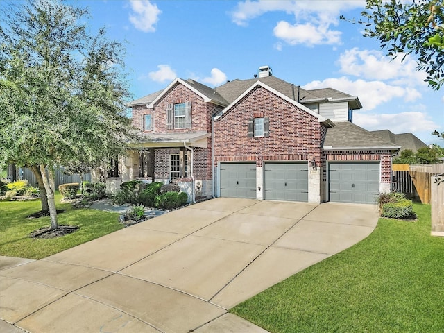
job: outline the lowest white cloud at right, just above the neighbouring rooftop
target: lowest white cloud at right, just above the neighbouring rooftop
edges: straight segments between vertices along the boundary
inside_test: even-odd
[[[391,130],[395,134],[418,131],[432,133],[436,123],[425,112],[407,111],[395,114],[368,114],[355,112],[353,122],[366,130]]]

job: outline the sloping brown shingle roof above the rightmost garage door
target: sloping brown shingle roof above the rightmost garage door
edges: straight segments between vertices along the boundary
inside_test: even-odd
[[[400,146],[390,140],[364,130],[349,121],[336,121],[335,126],[327,128],[323,148],[325,151],[384,148],[397,151]]]

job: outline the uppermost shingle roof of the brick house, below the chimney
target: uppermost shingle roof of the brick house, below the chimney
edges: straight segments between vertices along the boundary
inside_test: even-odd
[[[183,80],[176,78],[173,82],[163,90],[155,92],[153,94],[144,96],[140,99],[136,99],[130,103],[130,106],[149,104],[152,107],[155,102],[162,98],[164,94],[167,94],[169,89],[177,83],[182,83],[192,91],[196,92],[199,96],[203,97],[205,101],[212,101],[221,106],[230,105],[233,101],[239,98],[241,94],[244,94],[253,84],[262,82],[268,87],[275,89],[280,94],[287,96],[289,99],[298,100],[298,86],[281,80],[275,76],[265,76],[263,78],[251,78],[248,80],[232,80],[224,85],[216,88],[208,87],[202,83],[198,83],[195,80]],[[332,101],[347,101],[350,103],[350,108],[360,109],[362,108],[361,102],[357,96],[352,96],[340,92],[339,90],[332,88],[305,90],[299,88],[299,102],[301,104],[316,103],[316,102],[332,102]]]

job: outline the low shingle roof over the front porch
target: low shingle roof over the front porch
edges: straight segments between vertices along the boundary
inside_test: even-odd
[[[206,148],[207,137],[209,132],[193,132],[193,133],[142,133],[142,142],[133,144],[137,148],[151,147],[180,147],[184,143],[189,146]]]

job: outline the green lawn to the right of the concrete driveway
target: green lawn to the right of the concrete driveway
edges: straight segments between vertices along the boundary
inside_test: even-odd
[[[418,221],[379,219],[364,241],[241,303],[270,332],[444,332],[444,239]]]

